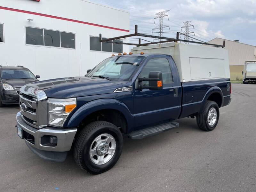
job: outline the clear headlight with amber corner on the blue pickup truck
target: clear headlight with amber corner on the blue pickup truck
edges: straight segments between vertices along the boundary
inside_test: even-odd
[[[76,108],[76,98],[48,100],[48,123],[62,127],[69,113]]]

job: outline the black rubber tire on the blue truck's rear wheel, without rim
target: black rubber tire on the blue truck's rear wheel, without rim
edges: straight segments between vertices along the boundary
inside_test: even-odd
[[[217,118],[213,125],[210,125],[207,121],[208,113],[211,108],[215,108],[217,112]],[[219,106],[214,101],[206,101],[204,111],[196,116],[197,126],[204,131],[212,131],[218,124],[220,116]]]

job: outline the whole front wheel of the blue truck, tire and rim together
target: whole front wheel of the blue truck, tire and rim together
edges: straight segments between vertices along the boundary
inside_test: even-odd
[[[100,174],[111,169],[123,149],[123,135],[106,121],[86,125],[79,133],[74,148],[76,164],[91,174]]]

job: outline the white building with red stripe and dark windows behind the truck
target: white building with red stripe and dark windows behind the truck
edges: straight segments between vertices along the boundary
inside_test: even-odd
[[[129,45],[100,43],[129,34],[129,12],[86,0],[0,0],[0,65],[41,79],[84,76]]]

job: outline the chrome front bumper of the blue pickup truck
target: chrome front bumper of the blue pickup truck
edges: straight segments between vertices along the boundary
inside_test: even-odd
[[[36,129],[36,128],[26,124],[23,121],[23,119],[21,118],[20,112],[17,113],[16,120],[17,120],[17,125],[23,130],[23,132],[26,132],[34,137],[33,141],[24,138],[24,140],[25,140],[26,144],[29,146],[29,148],[34,153],[39,155],[40,157],[42,157],[44,159],[48,159],[48,160],[53,160],[53,161],[54,161],[54,159],[49,159],[47,157],[47,155],[45,155],[45,153],[47,153],[47,151],[48,152],[69,151],[72,146],[72,143],[73,143],[76,131],[77,131],[76,128],[64,129],[64,128],[55,128],[55,127],[45,127],[42,129]],[[44,135],[50,135],[50,136],[57,137],[57,145],[55,147],[42,145],[41,138]],[[41,153],[40,153],[40,151],[41,151]],[[48,155],[49,155],[49,153],[48,153]]]

